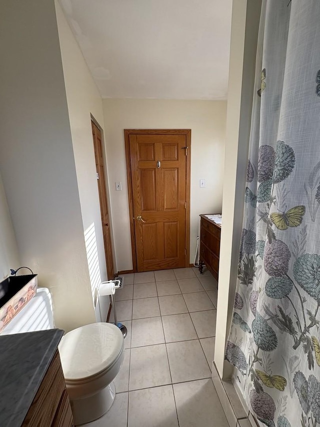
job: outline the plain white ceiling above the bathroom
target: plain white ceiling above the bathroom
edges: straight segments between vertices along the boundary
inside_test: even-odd
[[[232,0],[60,0],[103,98],[226,99]]]

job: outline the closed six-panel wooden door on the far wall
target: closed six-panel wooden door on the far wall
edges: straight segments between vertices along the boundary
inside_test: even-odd
[[[137,271],[188,266],[187,135],[129,134],[128,145]]]

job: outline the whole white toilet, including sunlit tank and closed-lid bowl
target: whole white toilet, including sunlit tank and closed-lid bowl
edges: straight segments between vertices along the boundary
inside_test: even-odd
[[[4,328],[2,335],[54,327],[51,295],[36,295]],[[123,362],[121,331],[110,323],[92,323],[66,333],[59,344],[63,375],[75,424],[102,416],[115,397],[113,379]]]

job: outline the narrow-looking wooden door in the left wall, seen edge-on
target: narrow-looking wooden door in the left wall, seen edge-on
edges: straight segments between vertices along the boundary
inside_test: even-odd
[[[92,136],[93,136],[93,146],[94,146],[95,168],[97,173],[96,177],[97,177],[97,184],[98,184],[98,191],[99,191],[106,272],[107,272],[108,280],[112,280],[114,278],[114,267],[113,267],[113,257],[112,257],[108,204],[107,204],[106,191],[105,191],[106,189],[105,189],[104,163],[103,163],[102,144],[101,144],[101,131],[96,126],[96,124],[92,121],[91,121],[91,126],[92,126]]]

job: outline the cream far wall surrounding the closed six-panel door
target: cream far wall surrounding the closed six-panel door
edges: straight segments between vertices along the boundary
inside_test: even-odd
[[[190,262],[201,213],[219,213],[225,101],[104,99],[105,144],[117,270],[132,268],[123,129],[191,129]],[[199,188],[204,178],[205,188]],[[115,182],[122,191],[115,191]]]

